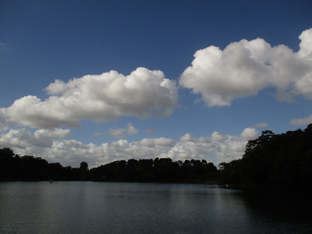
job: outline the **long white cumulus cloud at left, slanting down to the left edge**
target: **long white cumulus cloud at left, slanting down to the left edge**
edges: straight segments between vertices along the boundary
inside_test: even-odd
[[[117,71],[55,80],[46,89],[51,96],[42,101],[25,96],[0,109],[0,121],[31,128],[79,127],[81,119],[118,120],[120,116],[141,119],[171,115],[177,105],[176,82],[162,71],[139,67],[130,75]]]

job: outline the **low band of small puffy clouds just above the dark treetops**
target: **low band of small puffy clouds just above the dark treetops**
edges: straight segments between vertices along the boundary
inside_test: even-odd
[[[130,158],[171,158],[173,161],[185,159],[205,159],[215,165],[241,158],[249,139],[254,139],[255,130],[246,128],[240,136],[223,135],[213,132],[209,137],[195,138],[191,134],[181,136],[178,141],[160,138],[144,138],[128,142],[119,139],[111,143],[95,145],[83,144],[75,139],[59,140],[70,134],[69,129],[29,130],[11,129],[0,135],[0,147],[10,147],[15,154],[42,157],[48,162],[60,162],[63,166],[79,167],[80,162],[88,162],[89,167],[115,160]],[[250,138],[248,138],[250,137]]]

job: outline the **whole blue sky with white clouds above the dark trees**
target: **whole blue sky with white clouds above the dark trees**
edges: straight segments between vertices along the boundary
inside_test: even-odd
[[[311,1],[0,1],[0,148],[89,168],[241,158],[312,123]]]

